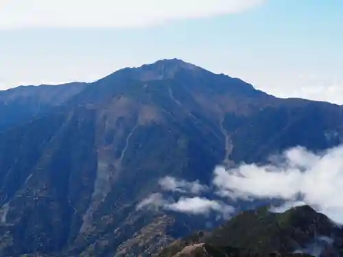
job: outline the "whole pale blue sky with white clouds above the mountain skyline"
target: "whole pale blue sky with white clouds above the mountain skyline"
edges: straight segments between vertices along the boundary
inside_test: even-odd
[[[280,97],[343,104],[342,0],[43,2],[0,5],[2,89],[181,58]]]

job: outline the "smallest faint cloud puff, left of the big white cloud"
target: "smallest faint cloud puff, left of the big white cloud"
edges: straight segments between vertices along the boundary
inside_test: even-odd
[[[198,180],[187,182],[186,180],[178,180],[169,176],[159,180],[158,184],[160,184],[164,191],[192,193],[194,195],[198,195],[208,189],[207,186],[200,184]]]

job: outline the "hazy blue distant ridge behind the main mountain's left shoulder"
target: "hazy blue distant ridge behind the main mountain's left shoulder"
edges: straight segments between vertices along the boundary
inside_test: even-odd
[[[33,117],[60,106],[80,93],[86,83],[58,86],[19,86],[0,91],[0,131],[14,125],[23,125]]]

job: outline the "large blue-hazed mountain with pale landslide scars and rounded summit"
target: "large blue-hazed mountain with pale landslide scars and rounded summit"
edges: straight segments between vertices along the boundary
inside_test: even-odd
[[[161,193],[161,178],[209,184],[217,164],[342,143],[342,106],[278,99],[182,60],[69,86],[54,88],[56,101],[40,87],[2,93],[27,90],[46,107],[5,119],[0,133],[0,256],[149,256],[208,219],[222,223],[137,208]]]

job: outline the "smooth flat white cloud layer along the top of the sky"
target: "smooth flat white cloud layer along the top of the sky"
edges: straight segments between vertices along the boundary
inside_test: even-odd
[[[265,0],[3,0],[0,29],[144,27],[243,12]]]

